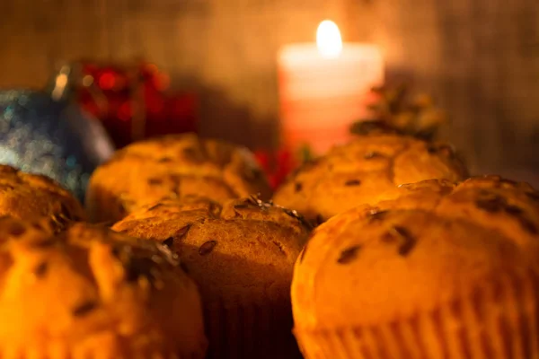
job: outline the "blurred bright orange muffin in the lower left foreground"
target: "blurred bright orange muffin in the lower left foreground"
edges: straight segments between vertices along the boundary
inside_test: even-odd
[[[197,286],[164,246],[0,219],[1,358],[203,358]]]

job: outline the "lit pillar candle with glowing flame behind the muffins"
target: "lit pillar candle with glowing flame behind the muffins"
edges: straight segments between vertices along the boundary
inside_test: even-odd
[[[384,82],[384,62],[376,46],[342,44],[333,22],[321,22],[316,40],[281,48],[278,92],[285,146],[324,153],[349,140],[350,125],[365,115],[365,95]]]

